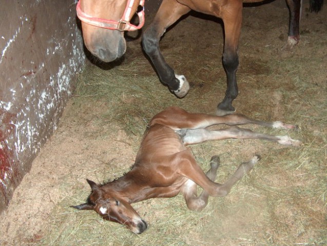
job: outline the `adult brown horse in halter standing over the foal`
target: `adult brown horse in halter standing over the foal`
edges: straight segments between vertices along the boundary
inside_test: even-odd
[[[244,0],[244,3],[256,3],[263,0]],[[323,0],[310,0],[311,11],[318,12]],[[159,41],[166,29],[174,24],[182,15],[190,10],[214,15],[223,20],[225,41],[223,50],[223,66],[227,76],[225,97],[218,104],[217,114],[233,113],[233,100],[238,95],[236,71],[239,65],[238,43],[242,23],[241,0],[163,0],[153,22],[142,37],[142,46],[157,70],[162,84],[177,97],[184,97],[189,84],[183,75],[166,63],[159,49]],[[299,22],[302,0],[286,0],[290,9],[290,24],[287,43],[284,48],[292,48],[299,42]],[[112,61],[122,56],[126,50],[123,31],[136,30],[144,23],[143,10],[138,12],[139,26],[130,24],[130,19],[144,0],[80,0],[77,13],[82,20],[84,43],[87,49],[103,61]],[[122,17],[121,17],[122,16]]]

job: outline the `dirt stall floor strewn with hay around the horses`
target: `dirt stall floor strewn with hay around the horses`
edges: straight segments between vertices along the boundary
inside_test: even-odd
[[[88,64],[59,127],[0,217],[0,244],[327,245],[327,6],[316,14],[304,3],[300,43],[284,52],[286,4],[243,9],[234,103],[238,113],[299,125],[299,132],[270,133],[291,135],[302,147],[256,140],[195,146],[203,169],[211,155],[221,155],[220,182],[253,154],[262,160],[227,197],[211,198],[203,212],[188,211],[181,196],[134,204],[149,222],[141,236],[69,207],[86,200],[86,178],[101,183],[128,171],[155,113],[176,105],[214,114],[225,91],[223,29],[217,19],[191,15],[161,42],[168,63],[191,82],[189,94],[177,99],[160,84],[139,38],[128,42],[119,63]],[[107,80],[109,85],[100,82]]]

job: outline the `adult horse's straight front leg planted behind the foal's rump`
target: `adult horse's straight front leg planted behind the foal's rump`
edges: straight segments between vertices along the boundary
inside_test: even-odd
[[[235,112],[233,100],[238,95],[236,71],[238,68],[238,42],[242,25],[242,1],[229,1],[221,9],[224,22],[225,43],[223,51],[223,65],[227,76],[227,90],[224,99],[218,105],[217,115]]]

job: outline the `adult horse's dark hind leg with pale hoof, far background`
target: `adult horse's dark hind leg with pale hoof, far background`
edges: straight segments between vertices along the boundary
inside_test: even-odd
[[[300,40],[299,26],[302,0],[286,0],[286,3],[290,10],[290,24],[288,26],[287,42],[282,50],[292,49]]]

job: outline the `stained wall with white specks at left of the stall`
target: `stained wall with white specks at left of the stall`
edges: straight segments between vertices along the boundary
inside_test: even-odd
[[[84,64],[75,5],[0,0],[0,212],[56,129]]]

